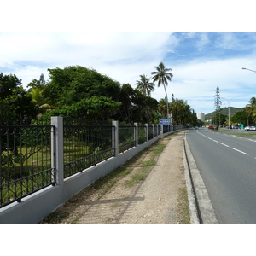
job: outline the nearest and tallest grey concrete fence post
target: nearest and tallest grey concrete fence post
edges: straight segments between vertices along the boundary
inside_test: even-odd
[[[63,185],[63,118],[60,116],[53,116],[50,120],[51,125],[55,126],[55,132],[51,137],[51,166],[52,168],[55,168],[56,184]]]

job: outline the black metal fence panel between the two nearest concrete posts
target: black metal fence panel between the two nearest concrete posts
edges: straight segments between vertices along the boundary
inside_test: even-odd
[[[65,122],[64,130],[64,177],[82,172],[90,166],[113,157],[110,124],[94,124],[88,121]]]

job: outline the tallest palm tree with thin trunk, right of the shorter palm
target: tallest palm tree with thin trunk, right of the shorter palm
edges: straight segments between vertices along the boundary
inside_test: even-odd
[[[153,82],[158,82],[158,87],[160,87],[161,84],[164,85],[165,91],[166,86],[168,84],[168,81],[172,81],[173,74],[170,73],[172,71],[172,68],[166,68],[163,62],[160,62],[159,66],[154,67],[156,68],[156,71],[152,72],[154,76],[152,77]],[[169,103],[168,103],[168,96],[166,92],[166,107],[167,107],[167,119],[169,119]]]

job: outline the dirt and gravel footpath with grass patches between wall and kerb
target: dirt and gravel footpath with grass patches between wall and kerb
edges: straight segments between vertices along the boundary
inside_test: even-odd
[[[160,139],[41,223],[189,223],[182,139]]]

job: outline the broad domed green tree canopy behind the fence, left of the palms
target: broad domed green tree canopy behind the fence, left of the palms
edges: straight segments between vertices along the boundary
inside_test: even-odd
[[[70,66],[49,69],[44,95],[55,106],[50,115],[74,118],[155,122],[158,102],[130,84],[123,84],[94,69]]]

